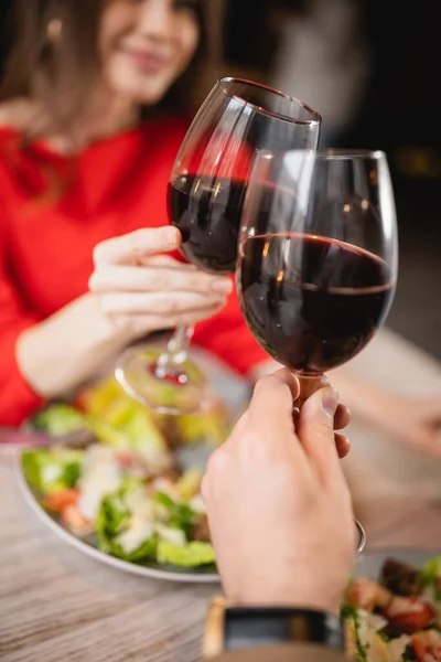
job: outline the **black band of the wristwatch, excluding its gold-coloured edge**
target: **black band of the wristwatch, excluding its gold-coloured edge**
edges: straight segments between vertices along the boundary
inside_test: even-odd
[[[229,607],[224,617],[224,650],[278,643],[319,644],[344,651],[342,621],[332,613],[291,608]]]

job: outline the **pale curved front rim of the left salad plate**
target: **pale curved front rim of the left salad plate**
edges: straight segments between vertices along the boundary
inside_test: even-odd
[[[22,452],[18,452],[14,457],[14,471],[15,477],[24,496],[26,504],[36,514],[39,520],[43,522],[53,533],[55,533],[62,541],[75,547],[78,552],[82,552],[86,556],[103,563],[112,568],[130,573],[131,575],[138,575],[140,577],[147,577],[149,579],[158,579],[164,581],[175,581],[180,584],[219,584],[220,577],[217,573],[207,573],[206,575],[198,575],[197,573],[173,573],[171,570],[160,570],[157,568],[149,568],[148,566],[140,566],[121,558],[116,558],[109,554],[100,552],[96,547],[84,543],[77,538],[73,533],[69,533],[63,526],[61,526],[55,520],[51,517],[49,513],[40,505],[36,501],[32,490],[26,481],[23,471]]]

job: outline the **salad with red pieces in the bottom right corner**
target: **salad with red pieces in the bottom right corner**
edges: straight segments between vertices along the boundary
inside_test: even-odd
[[[441,662],[441,557],[422,568],[387,558],[376,581],[349,583],[342,616],[358,662]]]

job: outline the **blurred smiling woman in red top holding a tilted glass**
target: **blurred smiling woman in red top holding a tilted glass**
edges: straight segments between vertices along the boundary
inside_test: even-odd
[[[204,10],[17,3],[0,106],[1,425],[176,324],[207,320],[195,342],[241,374],[266,359],[232,280],[170,253],[166,185],[206,57]]]

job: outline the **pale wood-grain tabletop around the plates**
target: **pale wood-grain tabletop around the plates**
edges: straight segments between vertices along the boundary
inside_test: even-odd
[[[441,393],[440,366],[388,331],[352,370],[407,389],[411,374],[415,391]],[[357,425],[351,438],[345,469],[370,548],[441,549],[441,462],[416,458]],[[148,580],[83,557],[35,521],[4,459],[0,503],[0,660],[198,660],[205,610],[218,586]]]

